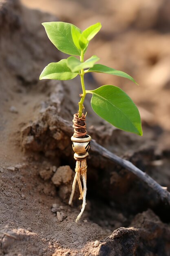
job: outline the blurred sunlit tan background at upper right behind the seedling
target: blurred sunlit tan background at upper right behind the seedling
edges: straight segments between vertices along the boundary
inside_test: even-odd
[[[127,72],[139,86],[116,76],[94,74],[98,85],[121,87],[139,107],[143,123],[170,130],[169,0],[21,2],[80,29],[101,22],[102,29],[91,41],[86,58],[97,55],[100,63]]]

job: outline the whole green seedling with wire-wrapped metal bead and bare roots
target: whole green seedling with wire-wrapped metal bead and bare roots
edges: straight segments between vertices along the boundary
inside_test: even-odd
[[[78,103],[79,110],[74,115],[74,135],[71,138],[73,141],[73,150],[75,151],[74,158],[77,160],[75,168],[76,174],[69,200],[69,204],[71,204],[75,184],[78,182],[80,190],[79,199],[83,199],[83,204],[82,210],[77,216],[77,222],[86,205],[86,157],[88,156],[91,140],[91,137],[86,135],[86,115],[84,115],[83,105],[86,94],[92,94],[91,107],[99,117],[102,117],[121,130],[142,135],[141,118],[137,106],[132,99],[130,99],[123,90],[114,85],[103,85],[95,90],[86,90],[84,75],[89,72],[97,72],[122,76],[130,79],[134,83],[136,83],[136,81],[125,72],[115,70],[102,64],[95,64],[99,61],[99,58],[95,55],[84,61],[84,54],[89,42],[102,27],[100,23],[96,23],[84,31],[66,22],[44,22],[42,25],[55,47],[61,52],[70,54],[71,56],[57,63],[47,65],[40,74],[40,79],[70,80],[78,75],[81,79],[82,94],[80,94],[81,99]],[[74,56],[79,56],[79,59]],[[83,189],[80,175],[82,175]]]

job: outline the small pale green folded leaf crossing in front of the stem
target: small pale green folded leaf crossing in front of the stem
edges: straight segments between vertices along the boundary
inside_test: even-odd
[[[67,65],[71,69],[72,72],[78,72],[80,69],[93,67],[95,62],[99,61],[99,58],[95,55],[91,56],[84,62],[80,62],[79,59],[70,56],[67,58]]]

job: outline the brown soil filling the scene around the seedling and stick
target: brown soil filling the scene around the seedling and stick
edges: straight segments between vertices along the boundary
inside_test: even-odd
[[[129,9],[120,1],[119,12],[110,0],[100,0],[97,9],[93,1],[22,2],[29,8],[41,3],[43,11],[18,0],[0,0],[0,255],[169,256],[168,206],[135,175],[93,153],[86,210],[75,223],[81,209],[78,188],[72,206],[68,198],[75,168],[71,120],[77,112],[79,80],[39,81],[44,66],[64,57],[41,23],[63,20],[83,28],[100,19],[104,29],[89,54],[100,55],[108,66],[114,61],[115,68],[141,81],[142,90],[126,81],[122,88],[128,88],[141,109],[144,136],[106,124],[90,104],[85,106],[88,134],[170,190],[169,2],[130,0]],[[89,76],[86,83],[96,88],[124,82],[110,79]]]

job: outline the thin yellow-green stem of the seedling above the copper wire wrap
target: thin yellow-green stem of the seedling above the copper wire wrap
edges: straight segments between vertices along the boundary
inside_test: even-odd
[[[83,51],[81,51],[80,61],[84,62],[84,52]],[[85,85],[84,85],[84,70],[83,69],[80,70],[80,78],[81,78],[83,93],[82,93],[82,96],[81,96],[82,98],[79,101],[79,116],[78,116],[78,118],[82,117],[83,108],[84,108],[83,103],[84,103],[84,99],[86,97],[86,89],[85,89]]]

